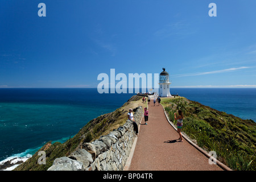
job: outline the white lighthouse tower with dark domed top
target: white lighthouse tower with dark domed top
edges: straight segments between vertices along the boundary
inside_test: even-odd
[[[170,94],[170,84],[169,74],[166,72],[166,68],[163,68],[159,76],[159,97],[172,97]]]

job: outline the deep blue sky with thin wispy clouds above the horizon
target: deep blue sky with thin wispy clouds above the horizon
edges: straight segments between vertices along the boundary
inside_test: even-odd
[[[46,17],[38,4],[46,4]],[[217,17],[210,17],[209,3]],[[256,88],[256,1],[0,2],[0,88],[97,87],[100,73],[171,87]]]

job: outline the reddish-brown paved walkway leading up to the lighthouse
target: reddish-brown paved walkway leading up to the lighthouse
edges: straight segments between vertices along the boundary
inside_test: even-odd
[[[143,118],[130,171],[222,170],[209,164],[209,159],[187,140],[177,140],[179,134],[168,123],[161,105],[156,102],[154,106],[151,100],[148,111],[148,124],[143,125]]]

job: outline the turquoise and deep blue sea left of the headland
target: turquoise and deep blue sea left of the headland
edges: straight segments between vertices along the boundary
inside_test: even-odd
[[[131,96],[97,89],[0,89],[0,161],[34,154],[49,140],[63,143]]]

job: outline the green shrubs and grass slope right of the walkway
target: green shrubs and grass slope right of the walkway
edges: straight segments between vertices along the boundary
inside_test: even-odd
[[[206,151],[216,151],[218,160],[233,170],[255,170],[256,124],[204,106],[184,97],[164,98],[170,121],[183,111],[183,132]]]

